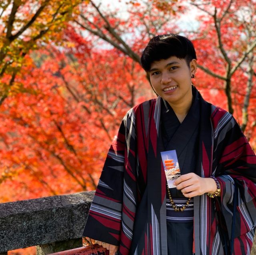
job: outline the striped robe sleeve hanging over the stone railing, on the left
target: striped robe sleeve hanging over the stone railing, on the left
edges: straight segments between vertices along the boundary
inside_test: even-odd
[[[108,151],[83,236],[119,245],[122,219],[125,118]]]

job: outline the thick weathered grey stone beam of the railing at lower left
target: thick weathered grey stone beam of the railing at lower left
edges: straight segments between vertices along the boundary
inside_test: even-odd
[[[0,204],[0,253],[82,237],[94,192]]]

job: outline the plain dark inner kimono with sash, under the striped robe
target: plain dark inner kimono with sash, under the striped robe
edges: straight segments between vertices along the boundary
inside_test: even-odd
[[[196,171],[196,151],[198,151],[199,108],[198,96],[193,91],[192,106],[182,123],[178,120],[170,105],[163,101],[161,104],[161,131],[164,150],[176,150],[181,174]],[[180,190],[170,189],[174,200],[180,199],[186,203]],[[168,198],[167,198],[168,200]],[[190,207],[184,212],[174,212],[171,206],[166,205],[167,215],[167,245],[168,255],[192,254],[193,245],[193,199]],[[168,217],[169,216],[169,217]]]

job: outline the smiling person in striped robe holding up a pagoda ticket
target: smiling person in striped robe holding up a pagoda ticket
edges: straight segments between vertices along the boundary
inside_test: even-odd
[[[124,117],[83,235],[110,255],[250,254],[256,157],[232,115],[192,85],[192,42],[156,36],[141,64],[158,97]],[[170,151],[181,174],[176,188],[166,182],[166,169],[174,166],[162,155]]]

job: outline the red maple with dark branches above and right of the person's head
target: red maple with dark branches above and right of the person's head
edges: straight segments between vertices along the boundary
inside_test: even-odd
[[[255,127],[254,107],[249,107],[250,101],[251,105],[255,103],[252,95],[255,95],[256,76],[256,7],[253,1],[193,0],[188,6],[184,1],[152,0],[131,1],[131,4],[129,18],[119,24],[115,13],[102,11],[91,0],[92,11],[81,13],[76,23],[138,63],[141,50],[156,34],[187,34],[198,49],[198,67],[203,71],[198,72],[196,85],[205,88],[209,100],[217,94],[220,102],[216,103],[235,115],[243,131],[249,123],[246,134],[250,139]],[[188,11],[196,27],[190,30],[177,26],[178,18]],[[126,34],[134,34],[130,42],[122,40]]]

